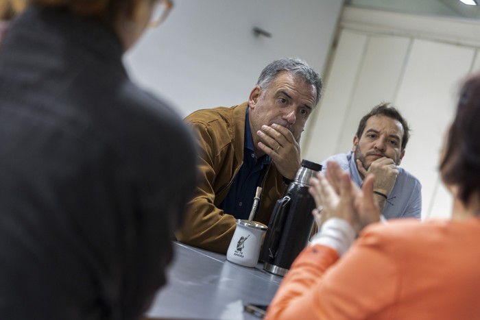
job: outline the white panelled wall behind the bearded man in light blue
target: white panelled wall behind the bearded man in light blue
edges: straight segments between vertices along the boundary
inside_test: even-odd
[[[346,8],[305,158],[349,151],[361,116],[391,101],[412,129],[401,165],[422,183],[422,218],[449,217],[440,148],[461,79],[479,69],[479,31],[480,22]]]

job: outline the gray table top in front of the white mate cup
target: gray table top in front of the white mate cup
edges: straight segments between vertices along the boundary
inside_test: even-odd
[[[180,319],[259,319],[243,305],[269,304],[283,278],[263,264],[243,267],[224,254],[174,242],[175,258],[146,316]]]

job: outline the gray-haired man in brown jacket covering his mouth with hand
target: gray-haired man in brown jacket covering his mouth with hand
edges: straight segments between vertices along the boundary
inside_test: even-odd
[[[254,220],[268,224],[300,168],[300,136],[321,89],[320,75],[303,60],[275,60],[248,102],[187,116],[200,145],[200,180],[178,241],[225,254],[235,221],[248,219],[257,186],[263,192]]]

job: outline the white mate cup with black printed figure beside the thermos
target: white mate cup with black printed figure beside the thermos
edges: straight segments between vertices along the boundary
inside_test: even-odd
[[[267,226],[263,223],[237,220],[237,227],[227,250],[227,260],[245,267],[259,262],[260,248]]]

